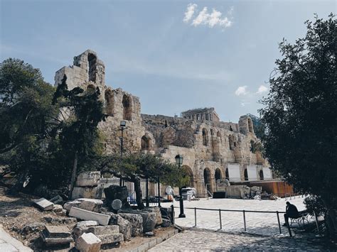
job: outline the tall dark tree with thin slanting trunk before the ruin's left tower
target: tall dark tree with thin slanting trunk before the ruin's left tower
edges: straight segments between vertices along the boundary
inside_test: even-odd
[[[97,158],[97,146],[100,134],[97,129],[100,121],[105,120],[103,104],[100,101],[100,89],[84,92],[80,87],[68,90],[67,77],[53,97],[53,104],[60,106],[60,116],[55,138],[60,143],[65,160],[72,160],[73,171],[70,180],[70,195],[73,192],[77,175],[77,166],[84,168]]]

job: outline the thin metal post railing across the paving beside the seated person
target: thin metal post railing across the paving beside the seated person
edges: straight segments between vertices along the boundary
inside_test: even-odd
[[[174,207],[178,208],[178,207]],[[247,222],[246,222],[246,213],[262,213],[262,214],[276,214],[277,217],[277,223],[279,226],[279,234],[282,234],[282,229],[281,229],[281,222],[279,221],[279,214],[285,214],[286,212],[279,212],[279,211],[253,211],[253,210],[230,210],[230,209],[209,209],[209,208],[200,208],[200,207],[186,207],[185,209],[193,209],[194,210],[194,226],[197,226],[197,210],[203,210],[203,211],[213,211],[213,212],[218,212],[219,213],[219,227],[222,230],[223,229],[223,221],[221,217],[221,212],[242,212],[242,219],[243,219],[243,229],[245,232],[247,231]],[[291,236],[291,231],[289,226],[288,231],[289,235]]]

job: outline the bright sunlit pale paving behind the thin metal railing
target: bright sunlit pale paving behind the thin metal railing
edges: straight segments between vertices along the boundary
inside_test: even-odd
[[[299,211],[304,210],[302,197],[292,197],[287,199],[291,204],[295,204]],[[199,207],[208,209],[230,209],[230,210],[253,210],[253,211],[269,211],[269,212],[285,212],[286,200],[255,200],[255,199],[200,199],[198,201],[184,201],[184,207]],[[171,203],[163,203],[163,206],[169,207]],[[194,226],[194,209],[184,209],[186,218],[178,218],[179,202],[174,202],[176,213],[176,224],[183,227],[191,228]],[[279,214],[281,225],[284,223],[284,214]],[[245,213],[247,233],[261,235],[277,235],[279,234],[279,226],[277,214],[269,213]],[[197,210],[197,226],[200,229],[220,229],[218,211]],[[221,212],[221,220],[223,224],[222,231],[242,232],[244,231],[242,212]],[[309,219],[314,221],[314,218]],[[294,224],[298,226],[298,224]],[[282,234],[289,234],[285,226],[281,227]]]

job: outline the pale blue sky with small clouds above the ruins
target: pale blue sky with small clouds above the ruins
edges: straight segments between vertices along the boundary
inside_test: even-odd
[[[138,96],[141,112],[173,116],[214,106],[222,121],[257,114],[278,43],[304,36],[336,1],[0,0],[0,60],[55,71],[87,49],[107,85]],[[205,9],[206,7],[206,9]]]

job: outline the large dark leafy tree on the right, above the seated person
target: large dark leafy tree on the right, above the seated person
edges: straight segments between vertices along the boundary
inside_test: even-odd
[[[337,84],[336,20],[306,21],[304,38],[279,44],[283,58],[263,100],[265,155],[296,190],[317,195],[336,231]]]

